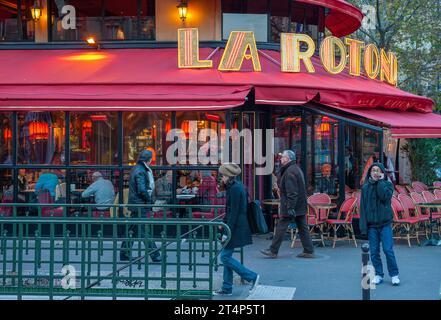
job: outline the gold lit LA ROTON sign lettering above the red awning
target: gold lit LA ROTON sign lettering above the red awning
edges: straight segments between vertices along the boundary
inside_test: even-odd
[[[302,51],[301,44],[306,49]],[[282,72],[301,72],[301,61],[309,73],[315,72],[312,57],[315,52],[314,40],[306,34],[281,33],[280,69]],[[364,56],[363,56],[364,49]],[[349,54],[347,54],[349,52]],[[252,31],[232,31],[218,66],[220,71],[239,71],[243,60],[251,60],[254,71],[261,71],[259,52]],[[363,60],[362,60],[363,59]],[[398,60],[394,53],[379,50],[374,44],[346,38],[344,42],[337,37],[325,38],[320,46],[320,60],[324,69],[331,74],[339,74],[348,65],[352,76],[361,75],[361,63],[370,79],[396,86],[398,83]],[[348,63],[349,60],[349,63]],[[198,29],[178,29],[179,68],[212,68],[211,60],[199,60]]]

